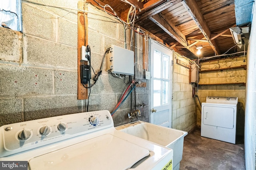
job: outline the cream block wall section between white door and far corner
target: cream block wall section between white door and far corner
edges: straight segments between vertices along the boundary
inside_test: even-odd
[[[174,53],[172,128],[192,131],[196,127],[196,101],[192,98],[193,84],[189,83],[189,69],[176,64],[176,59],[189,64]]]

